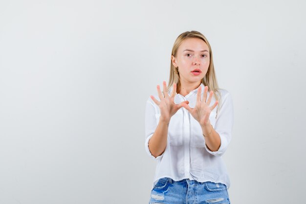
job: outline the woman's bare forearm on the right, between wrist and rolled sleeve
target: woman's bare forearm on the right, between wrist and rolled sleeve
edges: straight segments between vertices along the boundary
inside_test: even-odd
[[[215,152],[219,150],[221,140],[219,134],[214,130],[211,124],[202,125],[202,133],[205,136],[205,143],[210,151]]]

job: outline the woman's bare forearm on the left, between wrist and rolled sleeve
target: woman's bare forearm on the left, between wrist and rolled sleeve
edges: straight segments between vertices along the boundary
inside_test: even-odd
[[[151,154],[156,158],[166,149],[169,122],[159,120],[156,130],[149,140],[149,149]]]

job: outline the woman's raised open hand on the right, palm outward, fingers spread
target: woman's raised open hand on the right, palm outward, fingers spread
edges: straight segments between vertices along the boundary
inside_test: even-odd
[[[190,108],[189,105],[183,104],[182,106],[189,111],[189,113],[199,122],[201,127],[210,125],[209,115],[216,108],[218,105],[218,101],[214,103],[211,107],[209,107],[212,97],[213,97],[213,91],[210,91],[209,98],[206,101],[207,98],[207,90],[208,87],[205,86],[203,97],[201,100],[201,86],[197,89],[197,102],[195,108]]]

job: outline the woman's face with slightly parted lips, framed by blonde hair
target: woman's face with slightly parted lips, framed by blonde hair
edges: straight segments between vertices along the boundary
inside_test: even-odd
[[[178,67],[181,83],[200,83],[209,67],[208,45],[199,38],[187,38],[179,45],[172,64]]]

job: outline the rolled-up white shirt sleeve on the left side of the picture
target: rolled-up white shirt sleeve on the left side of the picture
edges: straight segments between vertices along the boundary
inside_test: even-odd
[[[157,109],[158,107],[156,107],[154,105],[154,102],[151,98],[148,99],[147,104],[146,104],[146,113],[145,113],[145,136],[146,136],[146,140],[145,140],[145,149],[146,152],[148,153],[148,155],[153,158],[153,159],[161,159],[162,156],[164,155],[165,151],[158,157],[154,157],[149,149],[149,140],[151,139],[151,137],[153,136],[153,133],[156,130],[157,127]]]

